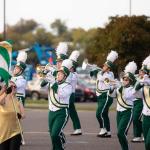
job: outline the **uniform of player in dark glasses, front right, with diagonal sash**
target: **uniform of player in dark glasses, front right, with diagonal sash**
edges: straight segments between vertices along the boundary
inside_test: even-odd
[[[117,136],[122,150],[129,150],[126,136],[133,116],[134,93],[132,86],[121,86],[111,94],[112,97],[117,98]]]

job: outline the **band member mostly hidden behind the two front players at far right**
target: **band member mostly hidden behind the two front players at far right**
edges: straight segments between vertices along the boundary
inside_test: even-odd
[[[139,70],[139,75],[137,77],[137,83],[143,82],[148,79],[148,69],[145,65],[148,57],[143,61],[142,68]],[[132,142],[142,142],[142,110],[143,110],[143,96],[142,90],[136,92],[136,98],[133,105],[133,134],[134,138]]]

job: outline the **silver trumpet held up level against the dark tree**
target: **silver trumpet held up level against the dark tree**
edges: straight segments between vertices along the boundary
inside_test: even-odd
[[[82,70],[92,71],[92,70],[97,70],[97,69],[102,70],[100,67],[98,67],[95,64],[89,64],[88,59],[85,59],[82,63]]]

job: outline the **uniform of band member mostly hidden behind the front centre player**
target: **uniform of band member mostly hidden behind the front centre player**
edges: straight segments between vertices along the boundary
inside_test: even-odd
[[[75,104],[74,104],[75,89],[77,85],[78,75],[76,72],[71,72],[67,79],[68,79],[67,81],[72,85],[72,88],[73,88],[73,91],[70,97],[70,105],[69,105],[70,118],[72,120],[74,130],[81,129],[80,120],[79,120],[79,117],[75,108]]]

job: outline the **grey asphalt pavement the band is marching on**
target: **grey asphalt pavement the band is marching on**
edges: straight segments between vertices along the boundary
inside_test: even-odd
[[[66,150],[121,150],[116,135],[116,112],[110,112],[112,138],[98,138],[98,123],[94,111],[79,111],[83,135],[70,136],[73,131],[72,122],[69,120],[64,129],[67,138]],[[32,110],[26,112],[26,119],[23,121],[24,137],[26,145],[21,150],[50,150],[51,140],[48,133],[47,123],[48,110]],[[128,132],[130,150],[144,150],[144,143],[133,144],[132,126]]]

